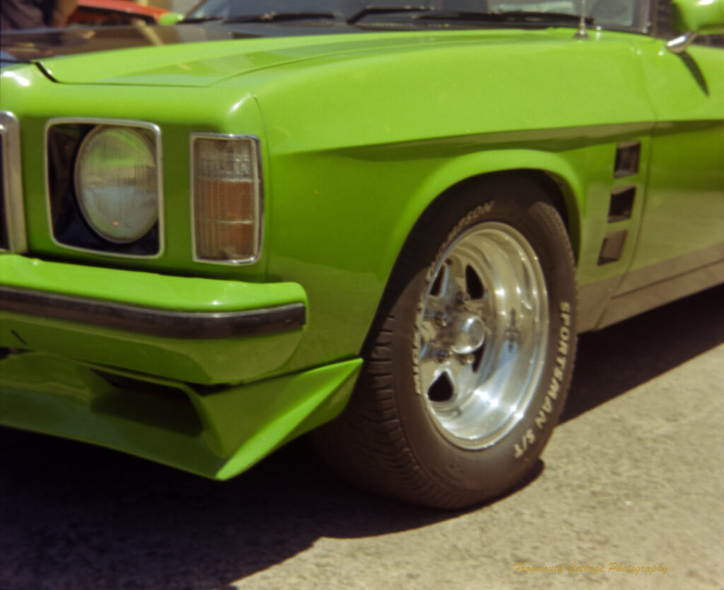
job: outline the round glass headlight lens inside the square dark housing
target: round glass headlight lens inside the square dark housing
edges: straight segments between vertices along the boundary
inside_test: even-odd
[[[83,140],[75,164],[75,192],[96,233],[130,244],[159,217],[153,144],[139,130],[102,125]]]

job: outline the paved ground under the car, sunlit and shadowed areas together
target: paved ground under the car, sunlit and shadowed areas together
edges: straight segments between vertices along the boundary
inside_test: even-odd
[[[724,589],[724,288],[577,365],[534,478],[466,512],[357,491],[305,441],[214,483],[1,429],[0,589]]]

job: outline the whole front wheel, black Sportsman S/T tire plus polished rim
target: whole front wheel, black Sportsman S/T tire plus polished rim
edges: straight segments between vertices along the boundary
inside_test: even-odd
[[[576,346],[573,254],[539,186],[445,197],[400,254],[348,407],[316,435],[348,478],[465,507],[515,486],[550,438]]]

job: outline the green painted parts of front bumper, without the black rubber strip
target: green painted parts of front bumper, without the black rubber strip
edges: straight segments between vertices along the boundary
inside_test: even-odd
[[[226,312],[306,303],[294,283],[242,283],[0,256],[4,286],[151,309]],[[303,330],[222,339],[167,338],[0,309],[0,346],[65,354],[148,375],[214,384],[279,372]],[[245,362],[238,362],[243,358]]]

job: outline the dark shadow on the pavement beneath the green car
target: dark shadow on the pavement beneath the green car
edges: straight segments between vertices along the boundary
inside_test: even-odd
[[[724,288],[581,338],[563,420],[724,341]],[[542,462],[523,485],[542,472]],[[455,518],[340,481],[306,441],[216,483],[123,454],[0,430],[0,589],[207,590],[322,537]]]

